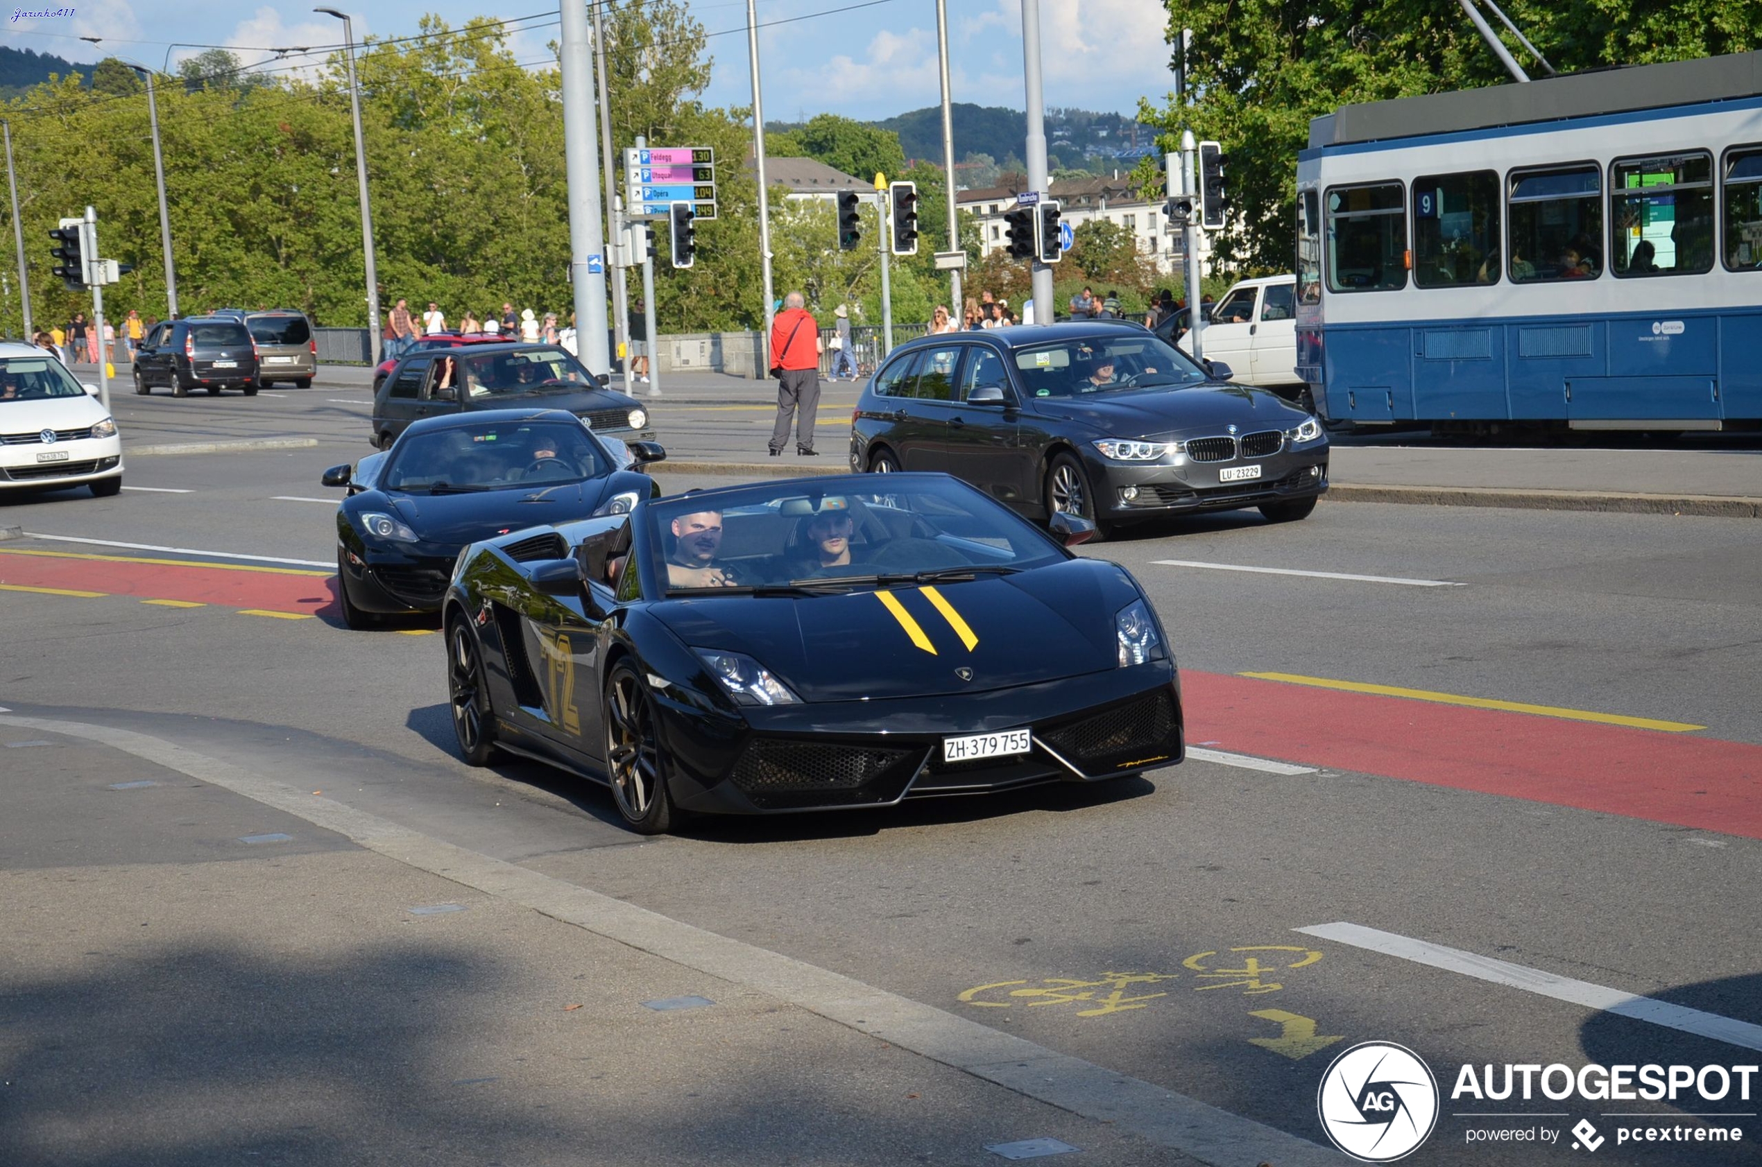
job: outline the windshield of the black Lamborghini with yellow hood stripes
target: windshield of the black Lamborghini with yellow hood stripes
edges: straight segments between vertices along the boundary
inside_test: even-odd
[[[885,489],[867,477],[766,482],[666,498],[645,516],[668,595],[848,591],[1064,558],[1038,528],[941,475],[900,475]]]

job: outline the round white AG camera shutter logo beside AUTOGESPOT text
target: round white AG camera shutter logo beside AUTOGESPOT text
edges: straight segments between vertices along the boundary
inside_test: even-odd
[[[1360,1163],[1392,1163],[1438,1125],[1438,1079],[1406,1046],[1362,1042],[1322,1075],[1316,1112],[1341,1151]]]

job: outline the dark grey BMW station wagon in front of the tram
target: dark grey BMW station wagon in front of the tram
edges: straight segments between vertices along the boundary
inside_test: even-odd
[[[1129,322],[923,336],[856,400],[851,470],[943,470],[1025,516],[1110,528],[1189,510],[1307,517],[1322,422]]]

